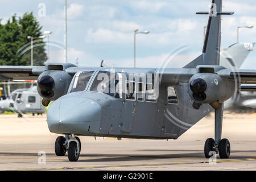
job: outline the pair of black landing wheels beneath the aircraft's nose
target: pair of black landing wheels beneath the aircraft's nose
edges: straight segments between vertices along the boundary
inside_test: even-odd
[[[68,159],[71,162],[76,162],[79,159],[81,152],[81,141],[74,134],[66,135],[65,137],[57,137],[55,140],[55,154],[64,156],[68,152]]]

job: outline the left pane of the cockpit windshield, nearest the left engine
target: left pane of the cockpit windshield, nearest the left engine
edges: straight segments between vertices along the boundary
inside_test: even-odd
[[[84,91],[94,71],[77,72],[69,88],[69,93]]]

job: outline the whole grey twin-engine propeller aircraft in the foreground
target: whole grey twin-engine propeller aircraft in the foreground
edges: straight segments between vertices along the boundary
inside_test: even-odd
[[[93,68],[73,64],[45,67],[1,66],[0,79],[38,80],[43,105],[49,106],[49,131],[57,137],[57,156],[79,159],[77,136],[177,139],[215,110],[214,139],[204,153],[229,158],[230,143],[222,139],[224,102],[256,84],[256,70],[227,69],[220,63],[222,0],[213,0],[202,54],[184,68]],[[246,85],[248,86],[248,85]],[[253,88],[253,86],[252,86]],[[248,88],[247,88],[248,89]],[[109,92],[110,90],[110,92]]]

